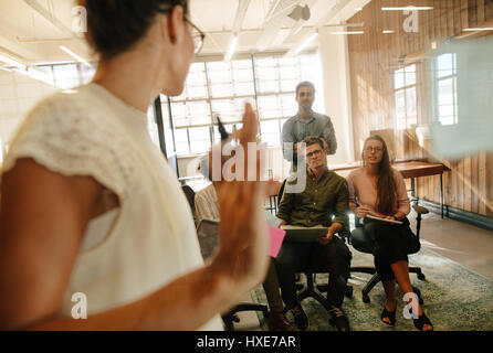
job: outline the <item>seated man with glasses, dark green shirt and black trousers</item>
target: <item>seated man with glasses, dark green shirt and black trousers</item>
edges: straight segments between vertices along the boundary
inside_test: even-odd
[[[329,312],[337,330],[349,330],[349,322],[340,308],[349,278],[352,254],[346,244],[334,236],[347,220],[347,184],[344,178],[327,169],[327,151],[321,138],[311,136],[304,142],[308,164],[306,188],[301,193],[284,192],[277,217],[282,220],[281,225],[312,227],[322,224],[328,226],[328,232],[314,243],[283,243],[276,259],[282,297],[296,325],[300,330],[306,330],[308,318],[297,301],[294,274],[328,271]],[[331,220],[332,215],[334,220]]]

